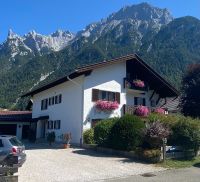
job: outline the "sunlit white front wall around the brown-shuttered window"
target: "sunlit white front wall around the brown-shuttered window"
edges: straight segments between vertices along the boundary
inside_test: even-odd
[[[122,106],[126,104],[125,89],[123,79],[126,77],[126,63],[117,63],[92,71],[84,80],[84,105],[83,105],[83,129],[91,127],[92,119],[104,119],[110,117],[120,117]],[[92,89],[99,89],[112,92],[120,92],[119,109],[112,113],[99,112],[92,102]]]

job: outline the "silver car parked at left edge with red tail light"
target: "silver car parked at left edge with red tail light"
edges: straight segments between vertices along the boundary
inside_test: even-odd
[[[17,172],[25,161],[25,146],[15,136],[0,135],[0,174]]]

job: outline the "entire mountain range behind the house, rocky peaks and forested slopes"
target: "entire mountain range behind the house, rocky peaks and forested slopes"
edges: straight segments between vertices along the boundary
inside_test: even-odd
[[[126,6],[72,34],[44,36],[10,31],[0,46],[0,107],[24,108],[19,96],[77,66],[138,53],[165,78],[180,86],[188,64],[200,60],[200,20],[174,19],[147,3]]]

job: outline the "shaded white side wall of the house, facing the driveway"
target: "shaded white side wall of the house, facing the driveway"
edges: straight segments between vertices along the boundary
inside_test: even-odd
[[[79,143],[81,138],[82,125],[82,83],[83,76],[74,79],[75,83],[67,81],[53,88],[40,92],[33,96],[32,117],[49,116],[49,120],[60,120],[61,129],[47,129],[46,132],[54,131],[56,140],[60,141],[60,135],[71,132],[72,143]],[[62,94],[62,102],[48,106],[47,110],[41,110],[41,100]],[[41,137],[41,122],[37,123],[37,138]]]

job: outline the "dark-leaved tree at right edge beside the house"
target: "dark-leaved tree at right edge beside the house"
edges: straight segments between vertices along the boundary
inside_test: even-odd
[[[200,64],[189,66],[182,84],[182,113],[186,116],[200,117]]]

